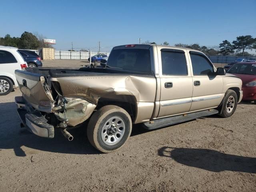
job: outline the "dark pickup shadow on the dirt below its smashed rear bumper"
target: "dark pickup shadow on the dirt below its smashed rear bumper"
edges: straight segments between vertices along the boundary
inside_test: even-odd
[[[20,127],[15,102],[0,103],[0,110],[0,150],[13,149],[16,156],[31,154],[33,149],[64,154],[101,154],[88,141],[86,127],[69,130],[74,137],[72,141],[68,141],[58,129],[55,129],[54,138],[42,138]],[[132,135],[148,132],[138,125],[133,130]]]

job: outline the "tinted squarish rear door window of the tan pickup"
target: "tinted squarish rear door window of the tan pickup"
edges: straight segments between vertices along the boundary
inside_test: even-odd
[[[163,75],[188,75],[185,52],[161,50]]]

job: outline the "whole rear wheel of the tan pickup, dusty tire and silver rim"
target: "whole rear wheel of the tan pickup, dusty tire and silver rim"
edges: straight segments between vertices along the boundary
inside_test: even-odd
[[[97,150],[110,153],[124,146],[132,132],[132,120],[123,108],[108,105],[95,112],[87,126],[87,137]]]

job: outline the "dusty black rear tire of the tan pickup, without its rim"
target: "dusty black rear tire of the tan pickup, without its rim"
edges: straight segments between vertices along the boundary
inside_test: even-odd
[[[109,145],[105,143],[107,142],[106,140],[103,141],[102,131],[104,132],[103,126],[108,125],[108,120],[113,117],[118,117],[123,120],[124,133],[122,134],[122,138],[120,138],[120,140],[116,144]],[[110,124],[112,125],[113,122]],[[104,153],[113,152],[115,150],[120,149],[122,146],[124,146],[128,138],[130,137],[131,132],[132,132],[132,120],[130,115],[123,108],[120,108],[114,105],[107,105],[100,108],[97,112],[95,112],[92,115],[87,126],[88,140],[90,141],[92,146],[94,146],[97,150]],[[117,135],[118,132],[116,131],[115,134]],[[110,137],[111,139],[112,135],[108,135],[107,137]]]

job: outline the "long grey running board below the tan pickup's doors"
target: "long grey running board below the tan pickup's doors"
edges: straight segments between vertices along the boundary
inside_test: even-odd
[[[213,114],[217,114],[217,113],[218,113],[218,110],[216,110],[216,109],[198,111],[198,112],[188,113],[188,114],[184,114],[184,115],[178,115],[178,116],[173,116],[173,117],[152,120],[152,121],[143,123],[143,127],[148,130],[157,129],[157,128],[166,127],[166,126],[170,126],[173,124],[177,124],[177,123],[181,123],[181,122],[185,122],[185,121],[189,121],[189,120],[193,120],[196,118],[209,116],[209,115],[213,115]]]

